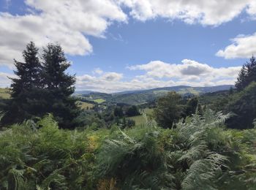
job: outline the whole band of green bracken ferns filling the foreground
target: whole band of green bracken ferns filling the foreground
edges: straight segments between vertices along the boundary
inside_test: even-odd
[[[52,115],[0,132],[0,189],[255,189],[256,130],[206,109],[162,129],[58,129]]]

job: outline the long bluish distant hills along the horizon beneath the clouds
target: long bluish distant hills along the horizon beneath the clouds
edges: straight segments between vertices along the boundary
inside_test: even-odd
[[[191,86],[172,86],[163,88],[153,88],[142,91],[122,91],[114,94],[105,94],[91,92],[87,94],[80,94],[86,99],[96,101],[98,99],[105,100],[105,102],[124,103],[124,104],[143,104],[154,101],[160,96],[164,96],[169,91],[176,91],[182,96],[199,96],[200,94],[212,93],[216,91],[225,91],[234,87],[232,85],[224,86],[208,86],[208,87],[191,87]],[[86,91],[88,92],[88,91]]]

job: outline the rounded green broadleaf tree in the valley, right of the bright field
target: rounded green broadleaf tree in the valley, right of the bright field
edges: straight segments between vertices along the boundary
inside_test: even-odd
[[[171,128],[173,123],[181,118],[183,112],[184,105],[181,104],[181,95],[173,91],[159,98],[157,107],[154,109],[154,118],[159,126]]]

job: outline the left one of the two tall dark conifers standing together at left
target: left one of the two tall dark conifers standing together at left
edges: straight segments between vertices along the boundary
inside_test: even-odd
[[[23,51],[25,62],[15,60],[15,75],[11,78],[11,96],[8,113],[4,117],[5,123],[21,122],[27,118],[37,116],[38,108],[38,91],[40,86],[40,69],[41,65],[38,58],[38,48],[34,42],[26,45]]]

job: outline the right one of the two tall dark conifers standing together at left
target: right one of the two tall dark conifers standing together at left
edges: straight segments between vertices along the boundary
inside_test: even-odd
[[[42,53],[42,86],[45,113],[53,113],[62,128],[73,128],[79,114],[75,99],[75,76],[66,72],[70,66],[61,46],[49,44]]]

